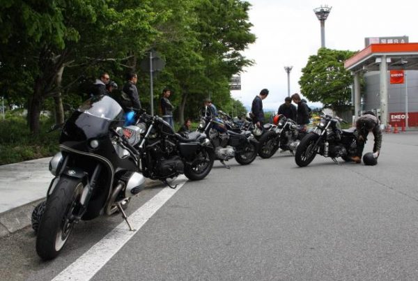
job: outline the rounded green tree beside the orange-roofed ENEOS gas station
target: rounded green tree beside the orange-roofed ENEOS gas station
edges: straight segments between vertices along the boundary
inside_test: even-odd
[[[355,52],[320,48],[318,54],[309,56],[299,80],[301,93],[336,112],[349,109],[353,77],[344,68],[344,61],[353,54]]]

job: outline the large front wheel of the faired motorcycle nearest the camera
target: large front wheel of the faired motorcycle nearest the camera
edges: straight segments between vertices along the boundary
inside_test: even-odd
[[[62,176],[49,195],[36,237],[36,252],[42,259],[54,259],[67,242],[83,188],[82,179]]]

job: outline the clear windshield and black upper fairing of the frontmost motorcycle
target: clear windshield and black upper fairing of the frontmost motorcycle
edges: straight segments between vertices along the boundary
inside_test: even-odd
[[[104,137],[109,127],[123,124],[123,109],[108,96],[95,96],[86,100],[65,123],[60,143],[68,146],[79,145],[88,139]]]

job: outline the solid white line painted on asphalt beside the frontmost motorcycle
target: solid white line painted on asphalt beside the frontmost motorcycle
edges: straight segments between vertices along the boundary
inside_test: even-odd
[[[180,180],[180,183],[178,181]],[[100,268],[107,264],[123,245],[134,236],[141,227],[160,209],[185,183],[185,176],[179,176],[175,182],[176,189],[164,188],[146,204],[129,216],[128,220],[134,231],[129,231],[125,220],[102,240],[96,243],[90,250],[84,253],[70,266],[65,268],[53,279],[58,280],[90,280]]]

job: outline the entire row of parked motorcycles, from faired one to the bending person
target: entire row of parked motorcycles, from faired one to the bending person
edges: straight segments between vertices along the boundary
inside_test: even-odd
[[[183,136],[142,109],[135,112],[135,125],[123,126],[125,113],[109,96],[84,102],[62,128],[60,152],[49,163],[54,179],[46,201],[32,214],[38,255],[54,259],[77,222],[102,214],[121,213],[132,230],[124,210],[146,178],[176,188],[169,179],[180,174],[192,181],[204,179],[215,160],[226,168],[231,158],[249,165],[257,155],[270,158],[279,149],[294,154],[300,167],[316,154],[334,161],[355,154],[354,131],[341,130],[336,117],[323,115],[315,130],[306,133],[284,116],[275,116],[273,124],[260,130],[249,119],[206,112],[197,130]]]

